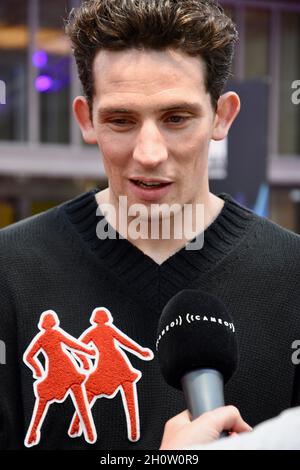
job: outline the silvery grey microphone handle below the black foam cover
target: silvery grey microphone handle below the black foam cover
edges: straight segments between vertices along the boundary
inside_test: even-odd
[[[181,384],[192,420],[225,405],[223,376],[215,369],[188,372],[181,379]],[[226,436],[226,431],[220,433],[220,438]]]

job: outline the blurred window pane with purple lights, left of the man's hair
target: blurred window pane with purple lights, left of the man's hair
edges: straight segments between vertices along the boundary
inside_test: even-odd
[[[52,0],[39,4],[36,89],[40,93],[40,139],[43,143],[70,142],[70,45],[64,19],[70,2]]]

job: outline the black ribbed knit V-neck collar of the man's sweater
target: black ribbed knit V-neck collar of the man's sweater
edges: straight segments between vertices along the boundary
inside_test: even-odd
[[[248,233],[256,217],[253,212],[234,201],[230,195],[218,194],[225,204],[216,219],[205,230],[203,248],[186,250],[183,247],[159,265],[127,239],[98,239],[96,227],[104,217],[96,215],[98,205],[95,195],[98,191],[94,189],[82,194],[64,204],[62,209],[74,230],[80,234],[85,249],[91,250],[99,261],[104,261],[105,266],[123,279],[128,287],[134,287],[135,292],[141,296],[147,295],[148,299],[151,298],[153,301],[154,291],[163,290],[157,308],[160,308],[160,304],[178,290],[189,287],[194,279],[199,279],[225,258]],[[152,295],[149,292],[150,285]]]

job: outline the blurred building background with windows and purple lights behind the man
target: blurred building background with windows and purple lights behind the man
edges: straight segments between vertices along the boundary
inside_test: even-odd
[[[79,3],[0,0],[0,227],[106,186],[71,111],[81,87],[63,24]],[[239,30],[229,88],[242,111],[212,145],[212,190],[300,233],[300,0],[220,4]]]

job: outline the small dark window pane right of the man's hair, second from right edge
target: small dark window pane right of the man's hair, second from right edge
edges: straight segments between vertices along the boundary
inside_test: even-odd
[[[269,11],[247,9],[245,14],[245,78],[266,78],[269,75],[270,45]]]

